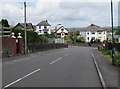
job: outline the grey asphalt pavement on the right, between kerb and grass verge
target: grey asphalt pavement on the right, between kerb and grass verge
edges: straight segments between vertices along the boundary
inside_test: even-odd
[[[100,71],[103,75],[107,87],[118,87],[118,68],[112,66],[111,62],[99,54],[96,49],[92,49]]]

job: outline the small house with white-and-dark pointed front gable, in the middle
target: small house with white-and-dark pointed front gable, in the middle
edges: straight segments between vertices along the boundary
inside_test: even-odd
[[[65,27],[61,26],[56,30],[55,35],[57,38],[68,37],[69,31]]]

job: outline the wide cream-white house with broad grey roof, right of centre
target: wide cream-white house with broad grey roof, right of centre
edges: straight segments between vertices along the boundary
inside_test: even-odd
[[[99,39],[102,42],[107,39],[106,30],[94,24],[82,30],[80,35],[85,38],[86,42],[91,42],[91,40],[95,39]]]

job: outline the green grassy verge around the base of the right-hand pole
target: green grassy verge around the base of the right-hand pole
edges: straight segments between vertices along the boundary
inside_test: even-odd
[[[100,49],[99,50],[101,52],[101,55],[104,56],[105,58],[107,58],[110,62],[112,62],[112,51],[111,50],[104,50],[104,49]],[[115,60],[115,66],[120,67],[120,53],[118,51],[115,51],[115,56],[114,56],[114,60]]]

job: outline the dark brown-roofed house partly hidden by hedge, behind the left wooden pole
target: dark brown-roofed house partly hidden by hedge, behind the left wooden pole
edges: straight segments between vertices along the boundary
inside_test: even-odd
[[[18,29],[25,29],[25,24],[24,23],[18,23],[14,28],[18,28]],[[32,23],[26,23],[26,29],[28,30],[35,30],[34,26],[32,25]]]

